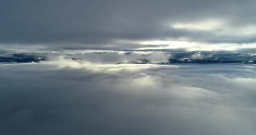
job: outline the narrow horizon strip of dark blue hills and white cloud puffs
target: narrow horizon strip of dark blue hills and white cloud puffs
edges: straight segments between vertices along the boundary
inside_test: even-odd
[[[256,54],[248,52],[100,51],[66,50],[41,52],[0,52],[0,62],[39,62],[60,59],[97,64],[243,63],[256,64]]]

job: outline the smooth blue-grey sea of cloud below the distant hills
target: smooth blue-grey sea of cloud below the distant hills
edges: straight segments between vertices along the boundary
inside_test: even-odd
[[[254,65],[91,67],[0,65],[0,134],[256,133]]]

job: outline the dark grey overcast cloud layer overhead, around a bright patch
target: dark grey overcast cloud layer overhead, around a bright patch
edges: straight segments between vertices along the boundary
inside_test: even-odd
[[[187,38],[250,43],[255,36],[232,34],[239,32],[236,28],[255,24],[255,4],[255,0],[1,0],[0,42],[96,47],[118,44],[116,40]],[[211,31],[169,26],[205,19],[226,24]],[[227,26],[231,28],[219,34]]]

